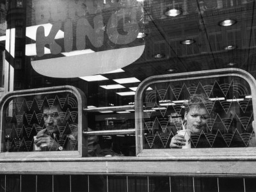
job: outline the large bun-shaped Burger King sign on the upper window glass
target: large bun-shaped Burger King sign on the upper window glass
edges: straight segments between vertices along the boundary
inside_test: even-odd
[[[32,8],[35,17],[26,28],[36,45],[31,65],[44,76],[103,74],[133,63],[144,51],[137,39],[143,8],[136,0],[35,0]]]

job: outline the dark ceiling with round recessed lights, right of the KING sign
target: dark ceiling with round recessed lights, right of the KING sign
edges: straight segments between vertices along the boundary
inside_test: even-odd
[[[256,72],[255,67],[255,0],[179,0],[175,7],[182,10],[176,17],[164,13],[173,1],[143,1],[145,13],[145,51],[141,58],[125,67],[125,72],[140,80],[149,76],[232,67]],[[184,10],[186,9],[186,10]],[[186,15],[184,15],[186,13]],[[234,19],[232,26],[219,22]],[[182,45],[181,40],[193,39],[194,44]],[[227,45],[236,49],[225,50]],[[154,58],[164,54],[164,58]]]

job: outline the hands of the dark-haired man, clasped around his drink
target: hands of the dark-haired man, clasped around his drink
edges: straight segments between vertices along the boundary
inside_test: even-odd
[[[59,144],[47,134],[39,134],[34,141],[41,150],[58,150]]]

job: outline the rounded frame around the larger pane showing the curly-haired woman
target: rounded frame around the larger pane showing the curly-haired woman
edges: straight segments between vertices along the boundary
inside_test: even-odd
[[[234,160],[237,158],[247,159],[248,156],[256,158],[256,147],[245,148],[193,148],[193,149],[143,149],[143,92],[152,83],[166,83],[172,81],[184,81],[191,79],[202,79],[212,77],[237,76],[246,80],[250,86],[252,95],[256,95],[256,80],[248,72],[239,68],[223,68],[217,70],[202,70],[198,72],[186,72],[179,74],[168,74],[163,76],[148,77],[138,86],[135,93],[135,129],[136,129],[136,156],[141,157],[174,157],[179,160],[189,159],[215,159]],[[256,120],[256,97],[252,97],[253,119]],[[254,122],[256,127],[256,122]]]

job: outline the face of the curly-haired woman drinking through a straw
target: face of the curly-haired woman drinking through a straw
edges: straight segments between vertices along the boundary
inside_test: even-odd
[[[208,118],[207,109],[198,106],[191,106],[189,112],[186,112],[184,116],[184,119],[187,120],[187,129],[191,129],[194,134],[199,134],[206,128]]]

